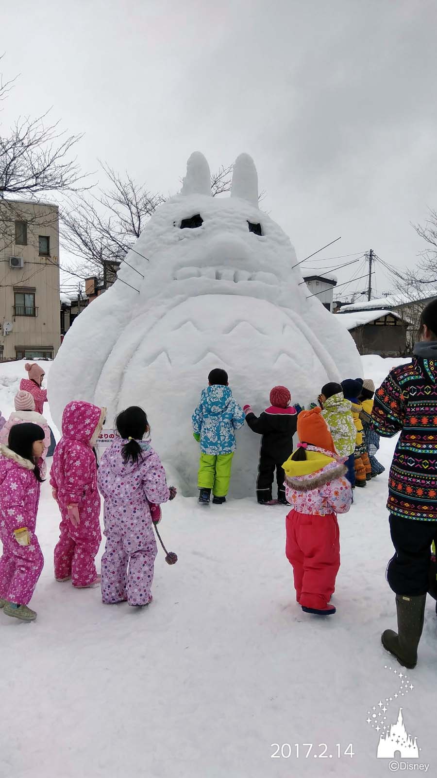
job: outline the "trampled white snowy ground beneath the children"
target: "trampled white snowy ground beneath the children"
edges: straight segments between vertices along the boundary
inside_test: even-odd
[[[376,383],[394,363],[364,362]],[[6,417],[23,373],[22,363],[0,365]],[[387,467],[393,447],[382,442]],[[420,758],[405,763],[429,764],[435,774],[433,602],[407,684],[380,645],[382,630],[396,624],[384,580],[392,553],[386,489],[386,474],[356,489],[355,505],[340,517],[337,614],[320,620],[295,604],[285,510],[254,499],[202,509],[179,498],[165,506],[160,527],[179,562],[169,567],[159,554],[148,609],[104,606],[98,590],[56,584],[58,514],[46,483],[37,622],[0,614],[0,776],[386,776],[389,760],[376,759],[379,734],[366,721],[379,702],[390,724],[401,706],[418,738]],[[272,759],[271,744],[291,749]],[[354,755],[339,758],[349,744]]]

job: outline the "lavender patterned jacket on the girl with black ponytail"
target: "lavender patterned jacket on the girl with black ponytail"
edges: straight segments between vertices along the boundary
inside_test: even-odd
[[[114,440],[100,461],[97,482],[105,500],[105,516],[109,511],[113,519],[118,516],[131,527],[145,518],[152,525],[149,503],[166,503],[170,499],[166,471],[149,443],[142,443],[138,464],[124,464],[121,449],[125,443],[128,440]]]

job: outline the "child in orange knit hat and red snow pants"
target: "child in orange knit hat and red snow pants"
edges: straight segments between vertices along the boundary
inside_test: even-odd
[[[336,610],[330,598],[340,567],[337,513],[348,512],[352,489],[321,408],[299,413],[297,433],[300,443],[283,465],[292,505],[285,519],[285,554],[302,611],[326,616]]]

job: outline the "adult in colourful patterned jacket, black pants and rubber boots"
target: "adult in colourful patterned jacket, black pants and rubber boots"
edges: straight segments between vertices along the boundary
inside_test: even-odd
[[[386,629],[382,640],[409,669],[418,660],[431,545],[437,540],[437,300],[425,307],[420,332],[412,361],[390,370],[372,412],[379,435],[400,432],[387,503],[395,548],[387,580],[396,594],[397,633]]]

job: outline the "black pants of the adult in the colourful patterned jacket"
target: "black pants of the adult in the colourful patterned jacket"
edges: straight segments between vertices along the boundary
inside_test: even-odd
[[[395,594],[418,597],[429,586],[432,541],[437,521],[416,521],[390,515],[390,534],[396,550],[387,567],[387,580]]]

